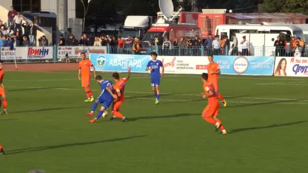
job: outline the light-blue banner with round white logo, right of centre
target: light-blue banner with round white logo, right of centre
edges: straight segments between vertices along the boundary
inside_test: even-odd
[[[214,56],[222,74],[273,75],[275,57]]]

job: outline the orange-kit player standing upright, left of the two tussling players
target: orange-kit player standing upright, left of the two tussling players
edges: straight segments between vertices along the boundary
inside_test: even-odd
[[[91,80],[90,67],[93,68],[94,78],[96,76],[96,72],[95,72],[95,68],[93,64],[91,63],[91,61],[89,59],[86,59],[85,53],[81,54],[81,61],[79,61],[78,67],[79,67],[78,79],[81,80],[82,88],[85,89],[85,92],[88,98],[87,100],[85,100],[85,102],[93,102],[94,97],[93,97],[93,93],[90,88],[90,80]]]

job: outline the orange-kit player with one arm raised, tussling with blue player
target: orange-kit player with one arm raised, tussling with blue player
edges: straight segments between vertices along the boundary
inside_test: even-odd
[[[124,97],[125,82],[129,79],[130,75],[131,75],[130,67],[128,67],[127,76],[124,78],[120,78],[119,73],[112,74],[113,80],[116,82],[114,85],[114,92],[116,95],[118,95],[118,99],[113,102],[111,108],[113,116],[111,117],[111,119],[121,118],[122,122],[127,120],[127,118],[119,112],[119,109],[125,99]]]

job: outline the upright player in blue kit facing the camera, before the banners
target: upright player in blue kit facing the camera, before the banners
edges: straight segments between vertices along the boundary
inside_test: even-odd
[[[145,68],[145,71],[150,71],[151,86],[156,97],[155,104],[160,103],[160,81],[161,77],[164,75],[164,65],[162,61],[157,59],[157,53],[151,52],[152,60],[150,60]],[[162,73],[160,69],[162,68]]]

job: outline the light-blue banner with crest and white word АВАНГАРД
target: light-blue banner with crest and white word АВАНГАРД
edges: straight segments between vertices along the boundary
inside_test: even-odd
[[[90,54],[90,60],[97,71],[146,73],[145,68],[149,61],[148,55],[119,55],[119,54]]]

